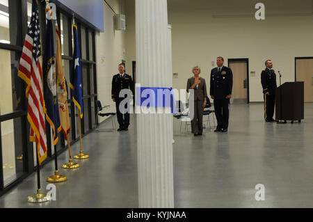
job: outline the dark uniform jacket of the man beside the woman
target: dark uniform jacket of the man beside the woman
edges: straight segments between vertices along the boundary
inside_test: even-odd
[[[218,73],[218,68],[211,70],[211,85],[210,95],[214,99],[225,99],[227,95],[232,95],[232,70],[226,66],[221,68]]]

